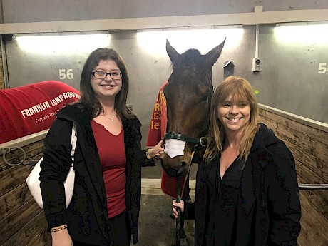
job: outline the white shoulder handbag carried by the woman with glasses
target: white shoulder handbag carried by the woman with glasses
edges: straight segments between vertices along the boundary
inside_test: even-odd
[[[75,148],[76,148],[76,125],[73,123],[72,127],[72,135],[71,135],[71,144],[72,144],[72,149],[71,149],[71,159],[72,159],[72,164],[71,168],[68,172],[68,175],[66,177],[66,180],[64,182],[64,187],[65,187],[65,197],[66,197],[66,207],[68,207],[69,203],[71,203],[71,199],[73,196],[73,190],[74,190],[74,179],[75,179],[75,173],[74,173],[74,153],[75,153]],[[26,178],[26,183],[27,186],[29,187],[29,190],[34,198],[36,200],[36,203],[38,203],[39,207],[43,209],[43,202],[42,202],[42,193],[41,193],[41,188],[40,188],[40,171],[41,171],[41,162],[43,161],[43,157],[36,163],[34,168],[31,170],[31,173],[29,176]]]

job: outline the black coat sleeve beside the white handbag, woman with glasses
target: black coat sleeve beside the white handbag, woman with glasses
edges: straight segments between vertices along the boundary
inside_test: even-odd
[[[56,119],[44,139],[40,187],[48,229],[68,222],[64,181],[71,168],[71,132],[73,123]]]

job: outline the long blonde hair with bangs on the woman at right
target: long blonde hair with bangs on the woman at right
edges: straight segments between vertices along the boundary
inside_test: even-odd
[[[250,154],[250,148],[258,130],[259,111],[257,108],[257,99],[250,82],[245,78],[237,76],[229,76],[215,89],[212,96],[210,109],[210,127],[208,130],[207,148],[204,153],[204,160],[210,161],[218,153],[222,153],[222,143],[225,140],[225,128],[218,119],[217,108],[229,96],[232,96],[232,101],[245,101],[250,104],[250,121],[245,125],[240,140],[239,157],[246,161]]]

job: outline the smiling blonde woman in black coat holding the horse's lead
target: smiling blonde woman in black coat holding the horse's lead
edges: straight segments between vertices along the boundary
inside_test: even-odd
[[[259,123],[254,90],[230,76],[215,89],[207,148],[196,176],[195,245],[297,245],[301,207],[292,153]]]

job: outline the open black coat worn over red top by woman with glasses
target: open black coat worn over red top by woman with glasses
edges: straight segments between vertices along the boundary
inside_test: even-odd
[[[76,123],[75,184],[73,198],[66,209],[63,181],[71,165],[71,128]],[[76,104],[58,112],[44,140],[45,151],[41,163],[43,206],[51,227],[68,224],[73,240],[92,245],[111,245],[108,236],[108,212],[96,141],[91,117]],[[138,118],[122,119],[126,153],[126,210],[130,220],[133,242],[138,242],[138,218],[141,196],[141,165],[154,165],[141,150]],[[111,143],[108,143],[111,148]]]

